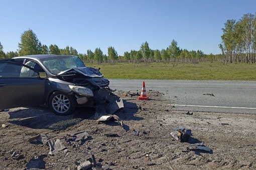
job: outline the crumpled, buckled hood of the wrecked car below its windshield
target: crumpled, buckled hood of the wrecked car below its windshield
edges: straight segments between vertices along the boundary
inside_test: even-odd
[[[73,70],[75,70],[85,76],[89,76],[89,77],[103,77],[104,76],[98,69],[93,68],[93,67],[88,67],[88,66],[67,69],[64,72],[61,72],[60,75],[65,74],[69,71],[73,71]]]

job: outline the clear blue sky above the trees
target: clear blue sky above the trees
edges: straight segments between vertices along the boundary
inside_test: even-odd
[[[119,55],[178,46],[221,53],[221,28],[228,19],[256,12],[256,0],[0,0],[0,42],[16,51],[32,29],[42,44],[69,45],[79,53],[113,46]]]

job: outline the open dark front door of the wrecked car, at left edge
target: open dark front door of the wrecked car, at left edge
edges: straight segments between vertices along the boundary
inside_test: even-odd
[[[31,67],[0,60],[0,109],[45,103],[45,78]]]

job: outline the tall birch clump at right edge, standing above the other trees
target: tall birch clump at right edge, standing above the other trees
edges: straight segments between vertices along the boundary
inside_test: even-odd
[[[222,28],[222,60],[226,62],[255,63],[256,16],[244,14],[238,21],[228,19]]]

